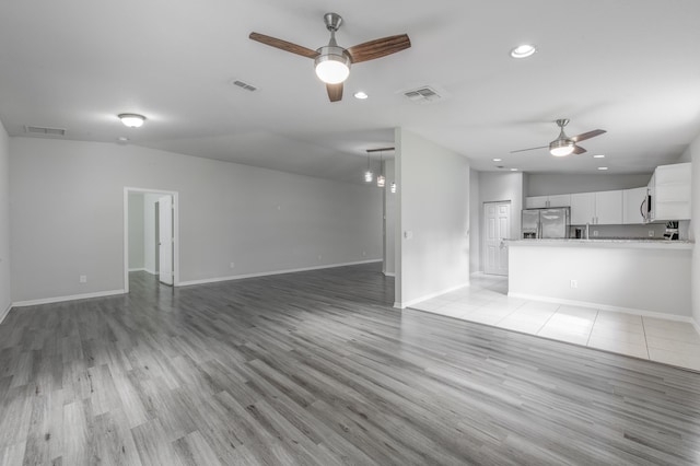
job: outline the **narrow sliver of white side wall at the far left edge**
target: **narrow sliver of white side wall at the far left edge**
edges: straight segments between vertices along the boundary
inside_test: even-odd
[[[10,147],[0,123],[0,322],[12,303],[10,280]]]

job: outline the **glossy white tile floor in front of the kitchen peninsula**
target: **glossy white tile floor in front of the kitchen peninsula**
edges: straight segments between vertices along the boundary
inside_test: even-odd
[[[505,277],[477,275],[470,287],[411,307],[700,371],[692,324],[509,298]]]

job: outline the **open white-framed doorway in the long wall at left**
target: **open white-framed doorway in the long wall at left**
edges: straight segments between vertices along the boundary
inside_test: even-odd
[[[168,286],[179,284],[178,194],[124,188],[124,289],[129,272],[145,271]]]

